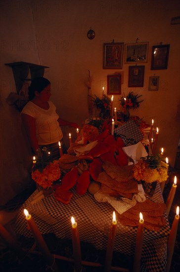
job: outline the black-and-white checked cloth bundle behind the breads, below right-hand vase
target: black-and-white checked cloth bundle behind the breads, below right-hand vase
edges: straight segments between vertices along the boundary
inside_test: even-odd
[[[114,130],[114,135],[123,139],[125,145],[133,145],[143,138],[143,133],[139,130],[135,121],[130,120]]]

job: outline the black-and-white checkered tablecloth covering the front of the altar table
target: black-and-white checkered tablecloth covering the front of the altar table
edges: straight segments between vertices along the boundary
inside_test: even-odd
[[[97,249],[106,249],[109,228],[112,222],[113,207],[108,203],[98,203],[89,192],[80,196],[73,188],[73,198],[68,205],[56,201],[54,195],[31,204],[36,190],[21,207],[16,220],[16,233],[32,237],[27,229],[23,210],[27,209],[34,218],[42,234],[54,233],[59,238],[71,239],[71,217],[78,223],[80,240],[93,244]],[[159,184],[152,200],[163,202]],[[166,226],[159,231],[144,229],[141,271],[165,271],[167,261],[167,239],[170,232],[166,217]],[[137,227],[123,226],[119,222],[116,229],[114,250],[128,256],[134,256]]]

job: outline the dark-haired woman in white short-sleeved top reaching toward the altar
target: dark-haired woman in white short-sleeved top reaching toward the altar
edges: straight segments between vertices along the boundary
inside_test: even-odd
[[[30,101],[24,106],[21,117],[35,154],[39,148],[46,147],[53,159],[57,159],[58,141],[63,152],[66,152],[60,126],[77,128],[78,125],[59,118],[55,105],[49,100],[50,91],[50,82],[47,79],[35,78],[29,87]]]

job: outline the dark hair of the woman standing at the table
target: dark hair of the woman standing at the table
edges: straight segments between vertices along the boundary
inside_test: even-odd
[[[31,86],[28,89],[29,100],[32,100],[35,97],[35,91],[39,93],[45,89],[50,84],[48,79],[43,77],[38,77],[32,80]]]

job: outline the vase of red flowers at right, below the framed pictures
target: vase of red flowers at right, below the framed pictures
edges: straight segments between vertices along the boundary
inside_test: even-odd
[[[119,99],[120,105],[123,107],[123,112],[121,112],[121,118],[124,122],[128,121],[130,118],[130,109],[137,109],[143,100],[138,100],[142,95],[134,94],[130,91],[127,96],[123,95]]]

